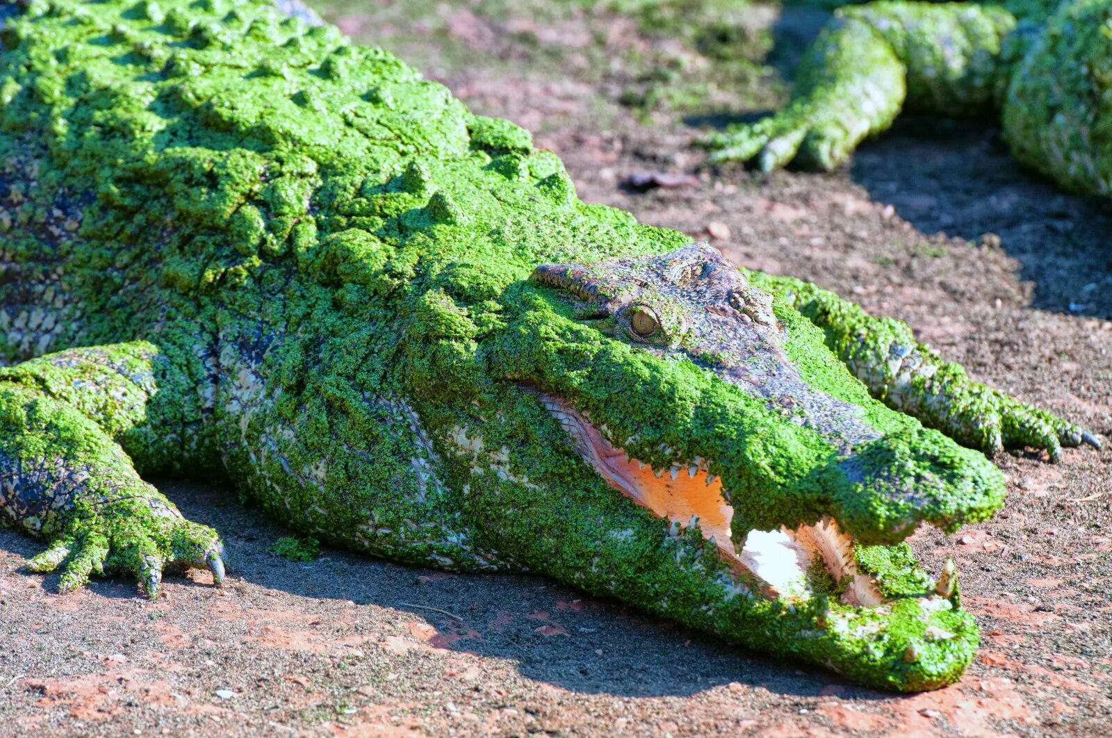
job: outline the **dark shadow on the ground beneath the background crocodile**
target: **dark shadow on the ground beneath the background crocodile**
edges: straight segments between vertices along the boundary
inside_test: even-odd
[[[1024,171],[983,121],[905,117],[853,159],[851,176],[924,233],[995,233],[1034,285],[1032,305],[1112,318],[1112,209]]]

